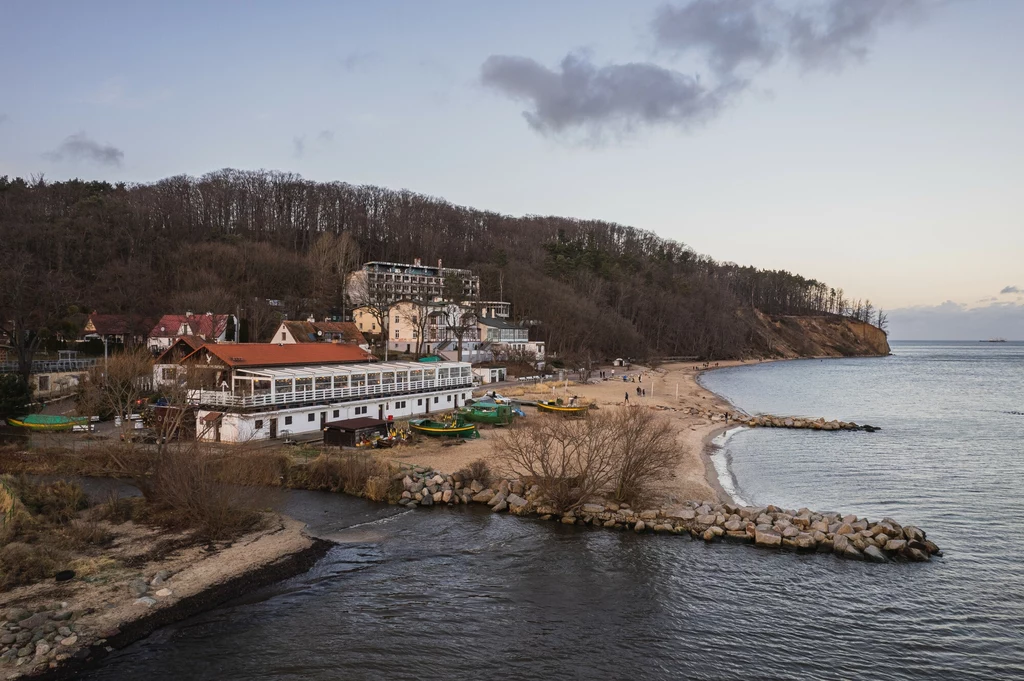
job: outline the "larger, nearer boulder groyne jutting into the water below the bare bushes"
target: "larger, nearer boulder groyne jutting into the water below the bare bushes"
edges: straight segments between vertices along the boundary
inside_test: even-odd
[[[636,533],[685,535],[706,542],[734,541],[768,549],[833,553],[852,560],[924,562],[941,556],[939,547],[913,525],[892,518],[870,521],[855,515],[816,513],[806,508],[752,507],[689,501],[668,509],[635,509],[629,504],[600,502],[559,512],[546,502],[540,486],[518,479],[487,483],[461,473],[408,466],[396,475],[403,491],[398,504],[407,508],[458,504],[486,505],[508,512]]]

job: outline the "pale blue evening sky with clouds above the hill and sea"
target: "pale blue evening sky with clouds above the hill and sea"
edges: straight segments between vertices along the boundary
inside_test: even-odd
[[[615,221],[1024,339],[1024,2],[2,2],[0,175]]]

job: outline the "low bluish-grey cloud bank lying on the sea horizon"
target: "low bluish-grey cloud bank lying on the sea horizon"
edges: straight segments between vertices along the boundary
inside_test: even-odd
[[[1019,302],[969,307],[947,300],[887,313],[890,337],[895,340],[1024,340],[1024,304]]]

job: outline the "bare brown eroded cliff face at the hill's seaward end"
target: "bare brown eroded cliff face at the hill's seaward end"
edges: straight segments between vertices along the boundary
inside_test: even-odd
[[[751,329],[748,352],[764,357],[844,357],[889,354],[878,327],[840,316],[768,315],[740,312]]]

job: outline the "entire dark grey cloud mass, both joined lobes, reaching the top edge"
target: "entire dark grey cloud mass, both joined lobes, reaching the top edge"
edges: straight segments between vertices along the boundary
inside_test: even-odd
[[[714,118],[760,72],[779,60],[804,70],[838,71],[862,60],[879,29],[921,17],[929,0],[690,0],[663,5],[650,23],[654,47],[696,54],[710,77],[653,62],[595,66],[569,54],[556,69],[518,55],[495,54],[480,81],[529,102],[523,116],[543,134],[586,128],[632,131],[687,126]]]

